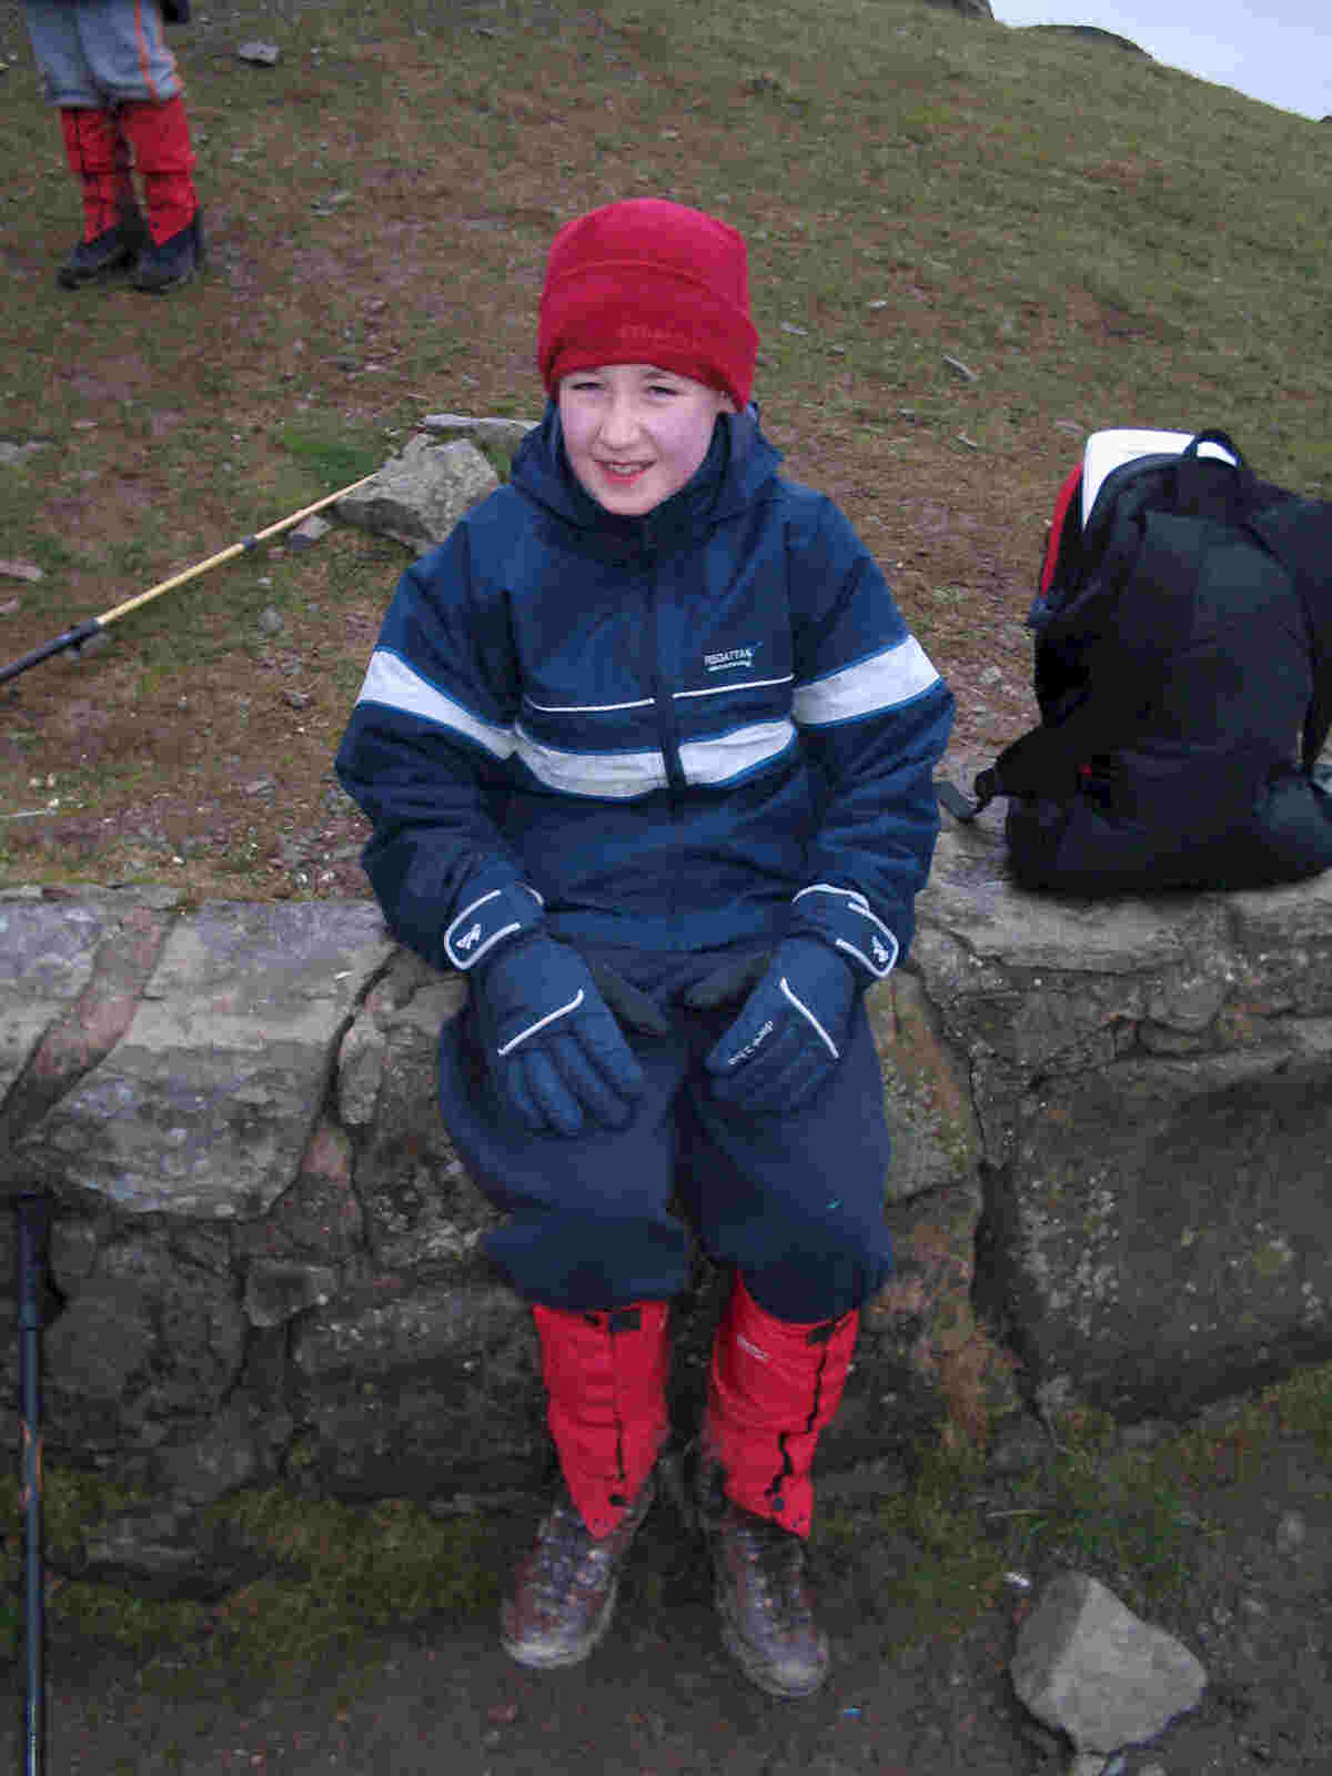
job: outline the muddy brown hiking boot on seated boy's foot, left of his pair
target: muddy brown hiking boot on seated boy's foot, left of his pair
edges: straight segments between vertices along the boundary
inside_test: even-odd
[[[652,1508],[652,1474],[643,1481],[616,1527],[597,1540],[565,1485],[536,1533],[536,1545],[519,1568],[513,1593],[499,1613],[501,1641],[510,1659],[538,1671],[581,1664],[602,1639],[614,1614],[620,1568]]]

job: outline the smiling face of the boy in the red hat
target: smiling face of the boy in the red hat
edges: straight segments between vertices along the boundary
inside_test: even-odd
[[[599,364],[559,382],[565,451],[583,488],[618,517],[641,519],[707,456],[728,394],[652,364]]]

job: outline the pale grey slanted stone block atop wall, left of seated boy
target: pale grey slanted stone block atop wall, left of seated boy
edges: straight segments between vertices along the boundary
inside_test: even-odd
[[[250,1217],[289,1186],[353,996],[392,952],[361,902],[179,922],[130,1028],[20,1144],[131,1215]]]

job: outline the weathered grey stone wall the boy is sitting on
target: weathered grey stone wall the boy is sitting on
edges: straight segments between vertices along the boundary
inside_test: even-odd
[[[542,1485],[529,1320],[435,1108],[462,995],[369,902],[0,897],[0,1188],[53,1204],[48,1458],[183,1510]],[[1055,902],[995,822],[950,826],[870,1012],[899,1273],[826,1467],[1023,1407],[1181,1417],[1332,1353],[1332,876]],[[700,1256],[682,1430],[723,1286]]]

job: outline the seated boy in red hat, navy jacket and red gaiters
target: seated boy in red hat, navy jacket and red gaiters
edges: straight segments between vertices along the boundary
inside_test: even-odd
[[[545,419],[401,577],[337,771],[394,934],[467,973],[442,1115],[540,1336],[563,1483],[506,1650],[570,1666],[611,1621],[668,1433],[678,1190],[733,1272],[696,1481],[723,1637],[805,1696],[810,1467],[892,1263],[861,996],[913,934],[952,696],[778,474],[755,352],[725,222],[634,199],[559,231]]]

